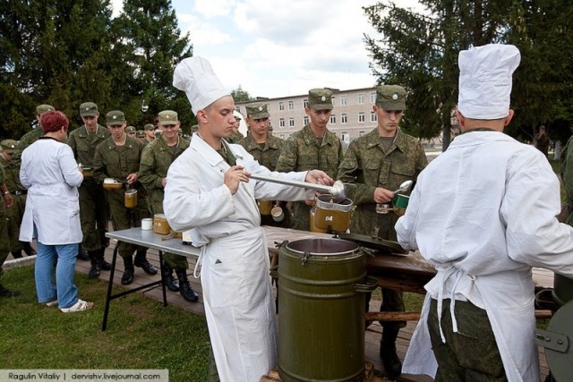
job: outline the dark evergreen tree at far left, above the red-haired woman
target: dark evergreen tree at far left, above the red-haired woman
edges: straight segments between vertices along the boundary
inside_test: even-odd
[[[108,5],[108,0],[0,4],[4,137],[18,139],[27,132],[38,104],[53,104],[73,122],[80,99],[107,98],[105,81],[98,81],[104,77],[98,75],[98,55],[109,29]]]

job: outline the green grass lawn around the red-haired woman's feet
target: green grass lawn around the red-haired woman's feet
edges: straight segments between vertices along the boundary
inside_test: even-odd
[[[96,305],[64,314],[38,304],[33,267],[10,269],[1,281],[21,295],[0,300],[0,369],[168,369],[171,382],[207,380],[202,316],[133,293],[112,302],[101,332],[107,283],[76,274],[81,299]]]

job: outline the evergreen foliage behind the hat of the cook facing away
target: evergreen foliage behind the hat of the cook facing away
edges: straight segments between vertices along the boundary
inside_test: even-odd
[[[522,126],[571,117],[570,20],[564,0],[420,0],[424,9],[391,1],[364,7],[379,37],[364,36],[380,83],[408,90],[405,129],[423,138],[449,132],[458,103],[458,53],[489,43],[512,43],[522,54],[512,106]],[[531,129],[529,129],[531,131]],[[449,133],[444,134],[444,147]]]

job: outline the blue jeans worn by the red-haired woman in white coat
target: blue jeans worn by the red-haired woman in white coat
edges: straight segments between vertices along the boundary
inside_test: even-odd
[[[39,303],[57,298],[59,308],[70,308],[78,301],[78,288],[73,284],[77,255],[78,243],[45,245],[38,242],[34,274]],[[54,280],[56,259],[56,280]]]

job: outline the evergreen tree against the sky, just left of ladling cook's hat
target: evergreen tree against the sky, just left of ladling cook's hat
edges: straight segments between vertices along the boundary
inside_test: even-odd
[[[192,46],[188,33],[181,36],[171,1],[124,1],[113,30],[116,73],[123,91],[119,105],[130,123],[142,126],[161,110],[173,109],[184,126],[191,126],[189,103],[172,81],[175,64],[192,55]],[[143,103],[149,107],[146,112]]]

